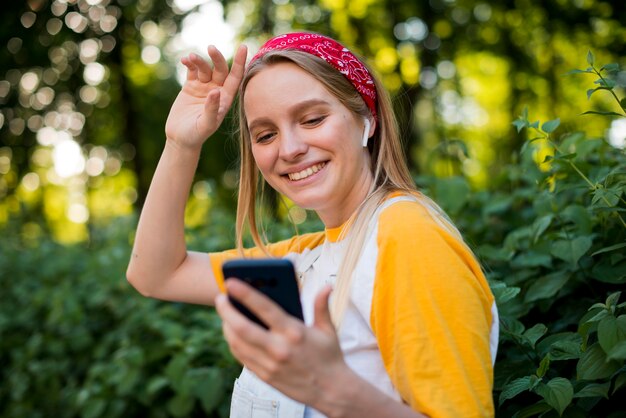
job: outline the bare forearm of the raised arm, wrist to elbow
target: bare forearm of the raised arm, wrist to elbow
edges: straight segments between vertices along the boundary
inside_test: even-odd
[[[146,296],[155,296],[187,256],[185,206],[200,148],[166,141],[141,212],[127,277]]]

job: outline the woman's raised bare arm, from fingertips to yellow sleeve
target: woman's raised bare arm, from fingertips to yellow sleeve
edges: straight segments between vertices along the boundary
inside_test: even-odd
[[[212,304],[218,293],[208,255],[187,251],[185,205],[202,144],[224,120],[241,83],[247,50],[239,47],[229,71],[223,55],[208,48],[213,67],[184,57],[187,79],[165,124],[166,142],[141,212],[126,276],[143,295]]]

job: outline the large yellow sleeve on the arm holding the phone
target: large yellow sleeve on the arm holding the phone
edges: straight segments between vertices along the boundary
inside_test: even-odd
[[[470,251],[415,202],[380,216],[371,324],[387,373],[414,410],[494,415],[493,295]]]

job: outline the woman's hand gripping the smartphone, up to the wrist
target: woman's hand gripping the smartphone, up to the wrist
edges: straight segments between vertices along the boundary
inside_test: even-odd
[[[226,288],[269,325],[265,330],[248,320],[224,294],[215,300],[233,355],[260,379],[290,398],[315,407],[332,392],[330,386],[339,376],[352,374],[330,318],[330,286],[316,297],[315,320],[310,327],[242,281],[227,280]]]

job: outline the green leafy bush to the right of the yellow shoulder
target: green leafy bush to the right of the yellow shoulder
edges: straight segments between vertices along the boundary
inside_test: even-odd
[[[595,74],[590,96],[608,90]],[[607,73],[609,77],[607,77]],[[559,120],[514,125],[535,135],[520,163],[472,194],[461,178],[420,179],[457,221],[486,269],[501,315],[495,369],[497,414],[509,417],[623,417],[626,404],[626,156],[582,132],[553,140]],[[538,165],[535,143],[551,152]],[[477,244],[477,245],[476,245]],[[623,300],[623,298],[622,298]]]

